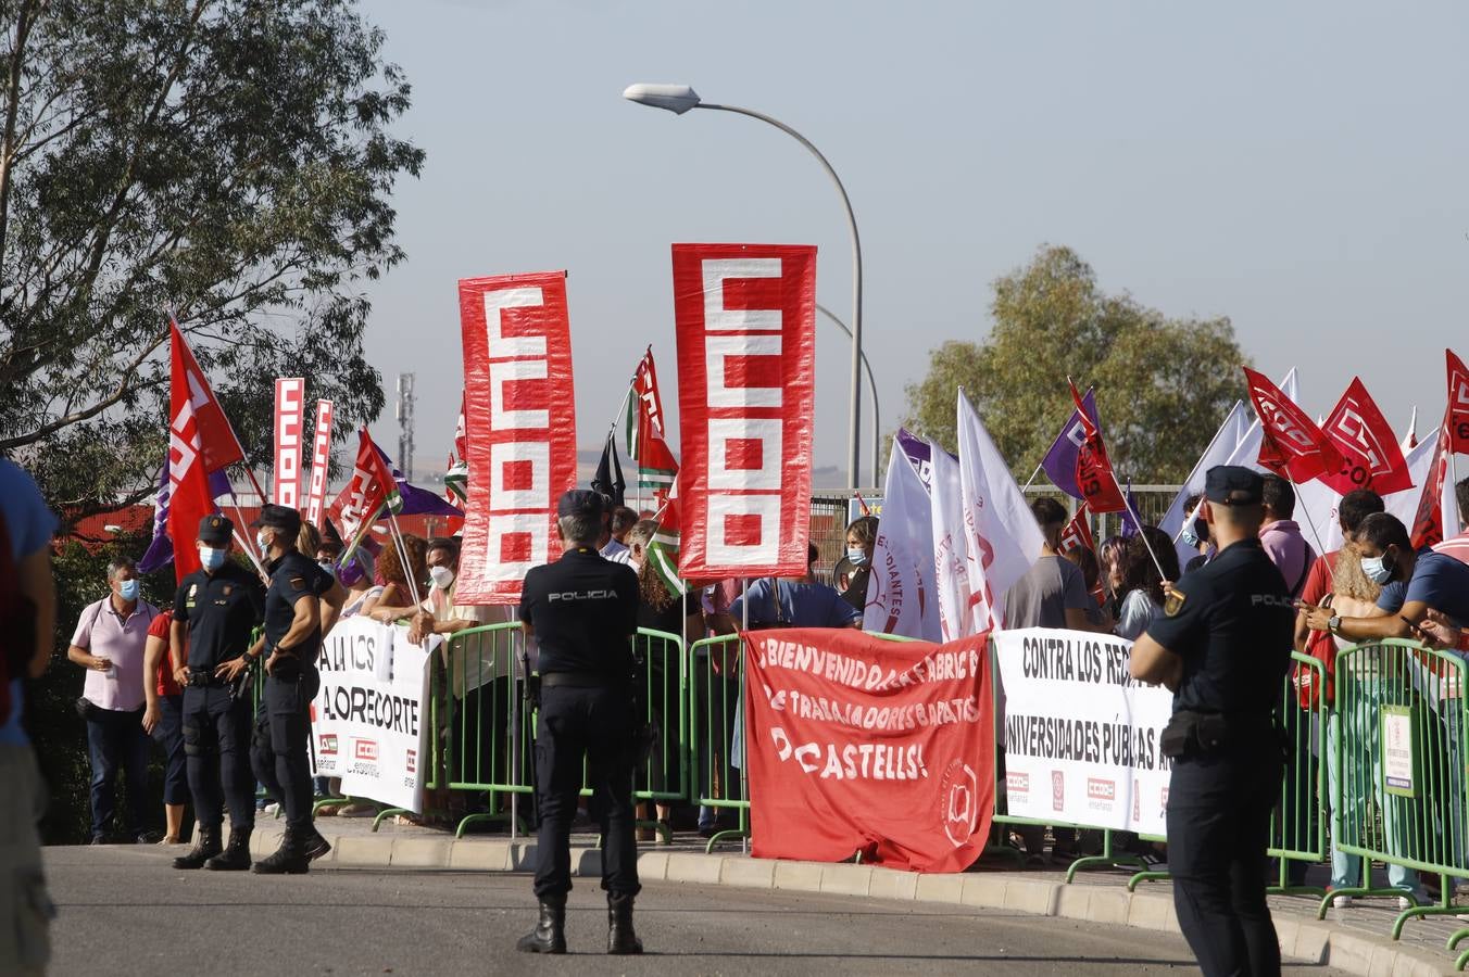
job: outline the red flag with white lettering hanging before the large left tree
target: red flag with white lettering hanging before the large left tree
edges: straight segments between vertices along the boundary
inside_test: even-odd
[[[169,538],[173,540],[173,572],[179,582],[200,568],[198,524],[216,512],[209,490],[209,471],[195,414],[194,383],[190,368],[198,364],[188,355],[184,334],[173,326],[169,343]],[[223,417],[223,414],[220,414]]]

